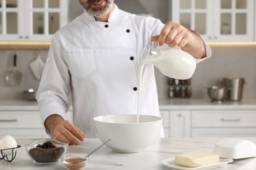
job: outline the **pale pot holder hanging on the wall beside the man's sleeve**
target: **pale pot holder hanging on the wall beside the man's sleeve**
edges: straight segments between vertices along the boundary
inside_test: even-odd
[[[37,80],[41,79],[44,67],[45,63],[41,59],[40,54],[30,63],[30,69]]]

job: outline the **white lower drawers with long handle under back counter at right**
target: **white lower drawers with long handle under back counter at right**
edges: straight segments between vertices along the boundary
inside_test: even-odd
[[[192,110],[192,137],[255,137],[255,110]]]

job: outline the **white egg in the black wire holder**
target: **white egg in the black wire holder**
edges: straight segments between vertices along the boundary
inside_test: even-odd
[[[0,148],[2,149],[2,152],[5,155],[11,155],[12,149],[9,149],[9,150],[3,150],[3,149],[16,148],[16,147],[17,147],[17,143],[15,139],[10,135],[4,136],[0,141]],[[13,150],[13,152],[15,152],[15,150]]]

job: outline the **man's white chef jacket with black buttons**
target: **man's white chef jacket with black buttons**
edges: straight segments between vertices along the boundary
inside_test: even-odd
[[[84,12],[62,27],[53,36],[37,92],[43,122],[51,114],[65,118],[70,93],[73,122],[86,137],[96,137],[95,116],[137,114],[142,50],[163,26],[115,5],[108,22]],[[140,114],[160,116],[153,65],[144,67],[140,93]]]

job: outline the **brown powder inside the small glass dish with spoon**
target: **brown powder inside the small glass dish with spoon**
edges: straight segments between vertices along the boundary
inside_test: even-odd
[[[86,165],[86,158],[66,158],[63,162],[68,169],[82,169]]]

